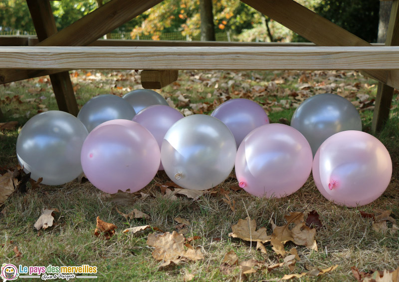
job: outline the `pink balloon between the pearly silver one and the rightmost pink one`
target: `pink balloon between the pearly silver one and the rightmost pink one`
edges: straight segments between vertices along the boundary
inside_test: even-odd
[[[235,174],[246,192],[281,198],[305,184],[312,157],[308,141],[298,130],[284,124],[266,124],[242,141],[235,157]]]

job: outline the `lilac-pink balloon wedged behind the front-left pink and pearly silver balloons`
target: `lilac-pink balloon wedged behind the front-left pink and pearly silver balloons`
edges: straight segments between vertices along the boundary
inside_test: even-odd
[[[178,110],[169,106],[152,105],[142,109],[134,116],[133,121],[140,123],[154,135],[161,150],[162,140],[164,140],[166,132],[183,117],[184,115]],[[159,170],[164,170],[162,162]]]

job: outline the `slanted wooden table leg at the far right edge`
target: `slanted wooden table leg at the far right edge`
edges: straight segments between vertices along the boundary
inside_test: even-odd
[[[387,46],[399,45],[399,0],[394,0],[390,16],[390,23],[387,30]],[[394,88],[384,83],[378,83],[376,106],[373,114],[372,132],[383,129],[389,119]]]

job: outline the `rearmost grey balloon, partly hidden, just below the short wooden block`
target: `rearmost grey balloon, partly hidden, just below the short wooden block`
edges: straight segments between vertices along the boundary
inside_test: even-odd
[[[136,113],[152,105],[166,105],[168,102],[162,95],[150,89],[137,89],[125,94],[122,98],[129,102]]]

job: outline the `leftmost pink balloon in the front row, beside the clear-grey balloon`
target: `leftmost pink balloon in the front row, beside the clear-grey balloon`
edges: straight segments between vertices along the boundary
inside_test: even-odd
[[[131,193],[151,182],[158,171],[161,152],[154,136],[134,121],[109,121],[87,136],[81,151],[83,172],[98,189]]]

